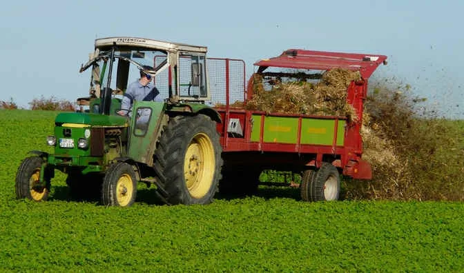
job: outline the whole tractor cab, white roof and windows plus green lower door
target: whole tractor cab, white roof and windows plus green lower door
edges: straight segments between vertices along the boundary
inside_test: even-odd
[[[95,51],[80,72],[89,68],[90,97],[78,103],[88,105],[90,114],[127,116],[122,155],[141,163],[153,163],[155,139],[151,138],[166,122],[166,110],[189,109],[183,103],[209,100],[205,47],[128,37],[97,39]],[[159,92],[157,99],[133,100],[130,109],[124,109],[124,94],[131,83],[139,81],[142,70]]]

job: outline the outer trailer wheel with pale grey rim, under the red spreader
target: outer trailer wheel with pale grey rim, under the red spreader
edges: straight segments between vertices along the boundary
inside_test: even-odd
[[[327,162],[322,163],[313,174],[309,187],[310,201],[336,201],[340,196],[340,174],[337,168]]]

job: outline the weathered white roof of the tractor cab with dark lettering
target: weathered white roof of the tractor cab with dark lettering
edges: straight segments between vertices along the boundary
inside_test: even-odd
[[[206,53],[206,46],[188,45],[185,43],[172,43],[167,41],[157,41],[153,39],[137,37],[108,37],[95,40],[95,48],[102,48],[111,45],[138,46],[142,48],[153,48],[164,51],[185,51]]]

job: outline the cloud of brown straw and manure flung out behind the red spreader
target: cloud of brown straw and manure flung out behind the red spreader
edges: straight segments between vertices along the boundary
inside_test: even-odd
[[[463,201],[462,129],[427,110],[407,92],[408,85],[379,81],[371,86],[361,133],[373,179],[345,183],[345,197]],[[419,105],[423,112],[415,111]]]

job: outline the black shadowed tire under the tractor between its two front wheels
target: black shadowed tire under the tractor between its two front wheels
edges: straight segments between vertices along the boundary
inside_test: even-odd
[[[97,201],[101,196],[103,176],[101,174],[81,174],[70,172],[66,178],[69,195],[79,201]]]

